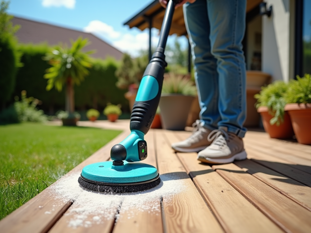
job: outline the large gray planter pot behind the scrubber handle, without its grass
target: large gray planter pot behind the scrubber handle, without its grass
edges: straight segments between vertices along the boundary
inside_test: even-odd
[[[160,98],[162,127],[167,130],[184,130],[193,96],[162,94]]]

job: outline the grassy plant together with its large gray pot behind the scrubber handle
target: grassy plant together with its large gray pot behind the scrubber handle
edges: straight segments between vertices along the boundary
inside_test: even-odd
[[[184,130],[197,89],[187,76],[165,73],[160,98],[162,127]]]

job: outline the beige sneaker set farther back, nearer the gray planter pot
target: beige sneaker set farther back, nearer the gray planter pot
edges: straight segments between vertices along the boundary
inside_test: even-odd
[[[207,148],[211,144],[207,140],[207,136],[211,133],[211,130],[204,128],[203,125],[204,122],[196,120],[192,125],[194,127],[192,135],[186,140],[173,143],[172,148],[176,152],[199,152]]]

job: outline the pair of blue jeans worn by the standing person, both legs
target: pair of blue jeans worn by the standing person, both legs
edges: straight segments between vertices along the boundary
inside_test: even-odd
[[[244,137],[246,0],[197,0],[183,6],[204,127]]]

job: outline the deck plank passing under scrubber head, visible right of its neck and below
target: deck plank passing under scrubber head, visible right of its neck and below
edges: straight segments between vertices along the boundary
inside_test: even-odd
[[[154,167],[157,167],[156,164],[156,150],[154,143],[154,132],[153,130],[149,130],[149,132],[145,136],[145,140],[148,146],[148,156],[142,162],[146,164],[150,164]],[[126,203],[126,199],[123,204]],[[139,203],[137,203],[139,204]],[[157,203],[154,203],[156,206],[160,206],[160,198]],[[123,211],[122,206],[119,212],[119,219],[117,224],[115,225],[113,232],[114,233],[162,233],[163,232],[163,224],[162,224],[162,214],[159,210],[145,210],[140,211],[136,208],[131,208]]]

